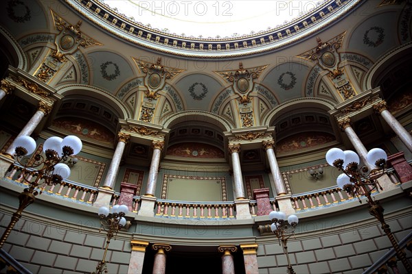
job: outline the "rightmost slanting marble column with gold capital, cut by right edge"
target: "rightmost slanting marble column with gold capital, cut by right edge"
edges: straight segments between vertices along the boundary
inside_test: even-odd
[[[404,143],[405,146],[412,151],[412,136],[409,134],[407,129],[402,127],[402,125],[396,120],[395,117],[387,110],[386,101],[380,101],[374,105],[374,110],[382,116],[382,118],[387,122],[389,127],[396,133],[400,140]]]

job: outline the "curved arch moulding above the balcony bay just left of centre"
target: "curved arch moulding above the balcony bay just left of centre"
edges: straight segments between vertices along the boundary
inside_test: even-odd
[[[126,105],[115,96],[111,95],[110,93],[101,90],[99,88],[95,88],[92,86],[86,85],[79,85],[79,84],[71,84],[62,86],[58,89],[58,94],[63,96],[70,96],[70,95],[84,95],[87,93],[87,96],[93,97],[95,99],[100,99],[104,103],[110,105],[113,110],[119,114],[119,119],[129,119],[131,118],[130,113]]]

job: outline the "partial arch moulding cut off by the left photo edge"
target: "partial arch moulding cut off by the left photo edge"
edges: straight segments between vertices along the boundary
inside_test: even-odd
[[[10,65],[14,66],[16,69],[26,71],[28,62],[19,43],[1,26],[0,36],[0,49],[8,59]]]

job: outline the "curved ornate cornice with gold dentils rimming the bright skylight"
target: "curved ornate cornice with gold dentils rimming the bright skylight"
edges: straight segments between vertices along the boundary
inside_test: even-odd
[[[190,38],[159,32],[130,20],[98,0],[65,0],[107,32],[146,49],[190,58],[236,58],[273,51],[318,32],[345,16],[363,0],[326,1],[281,27],[236,38]]]

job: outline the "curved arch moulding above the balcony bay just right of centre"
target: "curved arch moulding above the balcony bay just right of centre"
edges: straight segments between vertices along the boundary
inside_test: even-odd
[[[301,110],[302,108],[318,108],[328,112],[334,109],[334,104],[328,100],[321,98],[299,98],[290,101],[286,101],[277,107],[273,108],[266,117],[262,120],[262,125],[271,126],[278,116],[282,116],[290,110]]]

